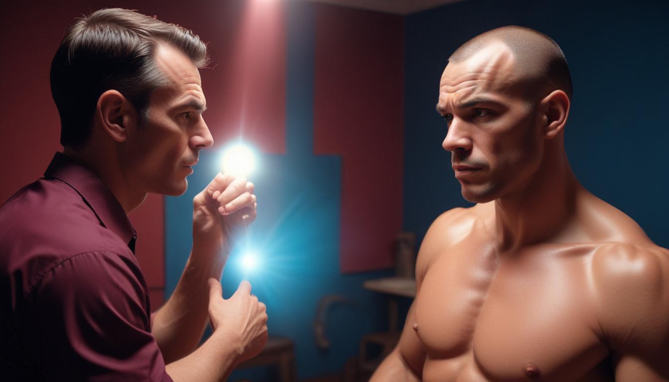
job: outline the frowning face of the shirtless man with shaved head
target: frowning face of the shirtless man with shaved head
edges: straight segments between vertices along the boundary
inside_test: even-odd
[[[448,124],[442,146],[468,201],[485,203],[521,191],[537,171],[543,138],[535,100],[518,85],[516,63],[490,43],[446,66],[437,110]]]

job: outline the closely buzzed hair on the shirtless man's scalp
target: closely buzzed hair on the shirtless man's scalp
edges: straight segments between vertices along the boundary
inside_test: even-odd
[[[563,90],[571,100],[573,88],[565,54],[551,37],[534,29],[518,26],[492,29],[464,43],[448,61],[465,62],[486,47],[499,43],[505,45],[514,58],[518,85],[532,96]]]

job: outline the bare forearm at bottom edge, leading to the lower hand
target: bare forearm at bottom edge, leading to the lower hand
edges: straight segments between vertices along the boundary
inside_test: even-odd
[[[167,374],[175,381],[225,381],[242,357],[239,344],[231,343],[214,332],[196,351],[167,365]]]

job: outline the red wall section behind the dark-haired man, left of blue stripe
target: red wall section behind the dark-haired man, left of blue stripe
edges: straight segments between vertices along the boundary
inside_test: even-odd
[[[260,3],[264,6],[256,7]],[[0,202],[41,177],[54,152],[62,149],[60,120],[49,86],[51,60],[66,25],[78,15],[103,7],[157,15],[209,41],[213,66],[201,75],[208,104],[205,118],[215,145],[237,136],[244,126],[245,138],[262,151],[285,151],[285,28],[280,2],[207,0],[195,7],[193,2],[157,0],[34,4],[3,4],[0,13],[0,112],[5,116],[0,127]],[[254,41],[266,45],[254,49]],[[254,70],[254,76],[248,75],[248,68]],[[242,108],[244,102],[248,108]],[[136,252],[153,308],[163,302],[165,286],[163,218],[163,197],[159,195],[149,195],[130,214],[138,231]]]

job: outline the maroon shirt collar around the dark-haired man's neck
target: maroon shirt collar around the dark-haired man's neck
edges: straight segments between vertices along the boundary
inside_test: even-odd
[[[134,189],[124,176],[114,153],[90,148],[72,150],[66,147],[63,153],[70,159],[84,165],[94,173],[107,188],[112,191],[126,215],[138,207],[147,197],[147,193]]]

